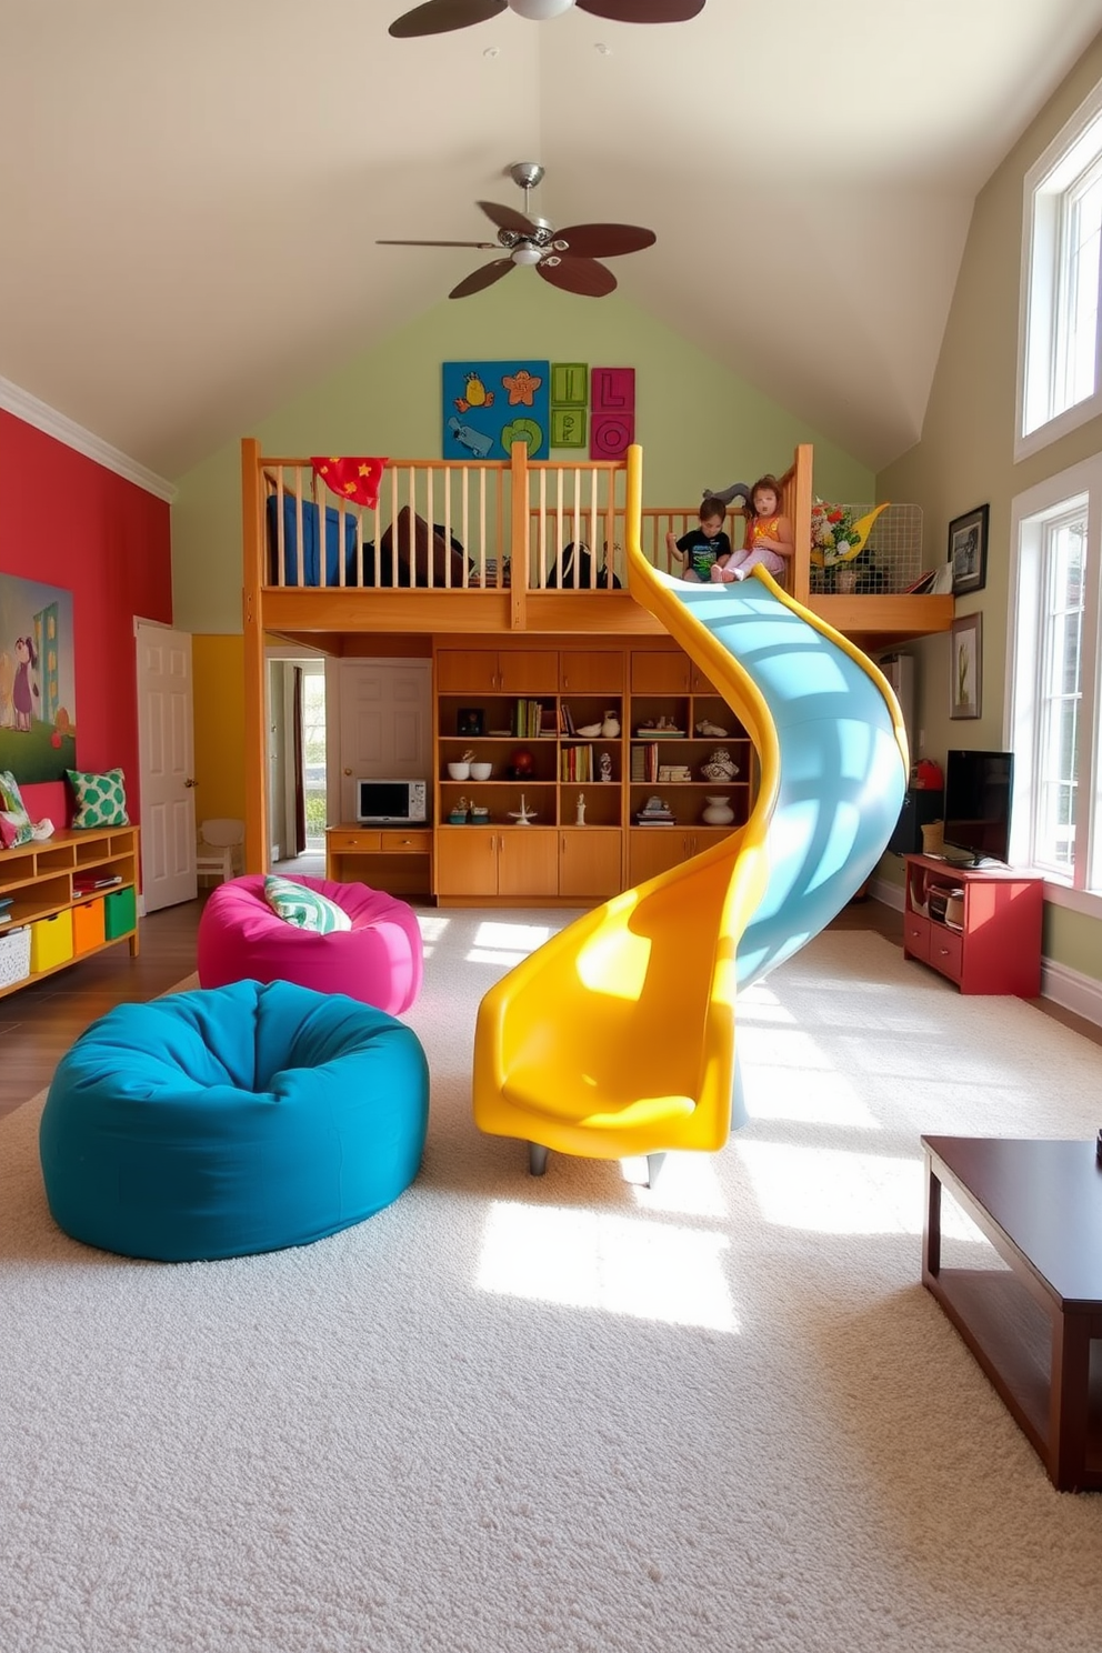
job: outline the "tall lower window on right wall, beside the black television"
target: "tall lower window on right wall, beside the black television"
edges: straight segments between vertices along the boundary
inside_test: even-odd
[[[1011,860],[1089,911],[1102,901],[1100,541],[1102,456],[1014,501]]]

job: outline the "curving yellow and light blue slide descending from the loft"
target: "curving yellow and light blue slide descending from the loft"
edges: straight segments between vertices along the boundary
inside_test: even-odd
[[[638,460],[628,521],[638,522]],[[633,509],[634,504],[634,509]],[[474,1119],[547,1150],[620,1159],[717,1150],[745,1122],[737,990],[828,924],[899,817],[907,746],[895,698],[853,643],[757,569],[629,588],[722,693],[758,754],[745,826],[560,931],[486,993]],[[661,831],[663,828],[649,828]]]

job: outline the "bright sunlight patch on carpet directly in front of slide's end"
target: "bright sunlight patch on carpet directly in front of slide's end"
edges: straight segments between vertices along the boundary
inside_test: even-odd
[[[476,1284],[530,1303],[737,1332],[722,1263],[729,1246],[725,1235],[641,1217],[499,1200]]]

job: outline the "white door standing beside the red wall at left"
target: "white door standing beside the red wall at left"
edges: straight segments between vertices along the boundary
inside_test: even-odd
[[[135,640],[142,903],[155,912],[198,891],[192,635],[139,620]]]

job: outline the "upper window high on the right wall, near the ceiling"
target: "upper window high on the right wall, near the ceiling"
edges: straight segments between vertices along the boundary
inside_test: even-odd
[[[1014,458],[1102,413],[1102,86],[1026,174]]]

